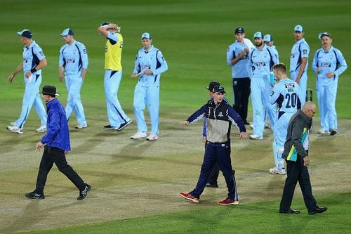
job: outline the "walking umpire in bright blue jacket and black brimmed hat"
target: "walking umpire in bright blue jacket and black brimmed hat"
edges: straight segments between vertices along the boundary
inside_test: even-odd
[[[43,99],[46,103],[48,112],[48,119],[46,122],[46,135],[41,138],[41,141],[37,143],[35,148],[41,150],[44,147],[43,157],[39,166],[39,172],[37,177],[37,186],[32,193],[26,193],[25,197],[30,199],[44,199],[44,186],[46,178],[53,163],[56,164],[58,169],[69,178],[74,186],[79,189],[79,197],[77,200],[82,200],[88,194],[91,189],[87,183],[81,179],[72,167],[67,164],[66,155],[71,150],[69,144],[69,130],[67,124],[67,118],[65,108],[62,107],[56,96],[60,96],[56,93],[55,86],[46,85],[43,87]]]

